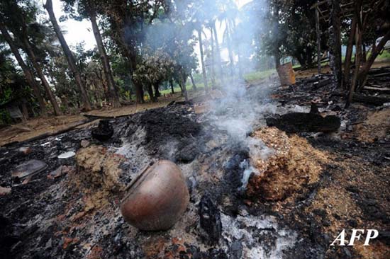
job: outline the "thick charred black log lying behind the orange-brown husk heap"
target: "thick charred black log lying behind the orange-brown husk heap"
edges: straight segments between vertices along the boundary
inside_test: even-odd
[[[340,128],[340,118],[335,115],[322,117],[316,113],[287,113],[267,118],[268,127],[285,132],[335,132]]]

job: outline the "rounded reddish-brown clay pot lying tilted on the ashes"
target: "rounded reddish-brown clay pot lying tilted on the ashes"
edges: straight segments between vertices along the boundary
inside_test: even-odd
[[[140,230],[170,229],[189,202],[186,180],[179,166],[161,160],[135,178],[121,202],[123,218]]]

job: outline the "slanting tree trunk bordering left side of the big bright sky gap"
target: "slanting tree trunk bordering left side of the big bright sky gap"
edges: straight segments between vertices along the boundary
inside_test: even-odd
[[[54,11],[52,10],[52,0],[47,0],[44,7],[46,8],[46,10],[49,13],[50,21],[51,21],[53,28],[55,30],[55,34],[57,35],[58,40],[60,40],[62,50],[64,50],[65,57],[67,58],[67,62],[69,63],[69,68],[72,70],[72,73],[74,75],[74,81],[76,81],[76,84],[79,88],[79,91],[82,94],[84,109],[91,110],[91,104],[89,103],[88,94],[87,94],[87,91],[84,87],[84,84],[82,83],[82,77],[80,76],[79,71],[77,70],[76,62],[74,62],[73,54],[70,51],[69,46],[67,45],[67,42],[64,38],[64,35],[62,35],[60,25],[58,25],[57,19],[55,18]]]

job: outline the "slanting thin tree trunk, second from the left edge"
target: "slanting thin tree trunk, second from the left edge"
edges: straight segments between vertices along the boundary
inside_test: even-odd
[[[45,88],[45,92],[49,97],[50,103],[52,103],[52,108],[54,110],[54,114],[55,115],[62,115],[62,112],[60,110],[60,107],[58,106],[57,100],[55,99],[55,96],[52,93],[52,89],[50,88],[48,80],[46,80],[46,77],[43,74],[43,71],[37,62],[37,59],[35,57],[35,53],[33,52],[33,48],[30,46],[30,42],[28,42],[27,35],[25,33],[23,33],[23,35],[21,37],[23,37],[22,41],[23,41],[24,47],[26,48],[26,53],[27,53],[28,57],[30,58],[31,63],[33,64],[33,67],[35,68],[35,71],[37,71],[37,74],[40,78],[40,81],[42,82],[43,88]]]

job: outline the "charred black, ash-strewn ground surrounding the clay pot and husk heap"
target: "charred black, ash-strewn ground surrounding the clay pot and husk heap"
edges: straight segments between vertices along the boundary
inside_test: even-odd
[[[323,75],[271,88],[272,99],[258,91],[269,82],[252,86],[241,96],[249,100],[244,108],[234,100],[196,114],[192,105],[177,104],[113,119],[107,142],[91,138],[91,126],[1,147],[0,186],[11,192],[0,196],[0,257],[389,258],[390,128],[384,123],[389,108],[353,104],[343,109],[345,100],[332,84],[313,84],[328,79]],[[318,179],[283,198],[249,197],[242,182],[254,151],[248,136],[265,127],[265,117],[308,112],[313,100],[323,115],[342,120],[336,133],[288,136],[307,139],[326,156],[326,162],[317,161]],[[248,107],[256,110],[251,129],[236,130],[241,119],[247,122]],[[232,114],[240,120],[230,123]],[[22,146],[30,153],[24,154]],[[66,151],[77,156],[57,159]],[[45,161],[48,168],[24,183],[12,178],[14,168],[30,159]],[[123,221],[118,209],[123,188],[112,185],[126,186],[157,159],[182,168],[190,204],[173,229],[138,231]],[[89,167],[96,164],[96,170]],[[72,168],[48,178],[62,165]],[[117,170],[122,171],[118,179],[110,174]],[[342,229],[378,229],[380,234],[372,246],[329,246]]]

